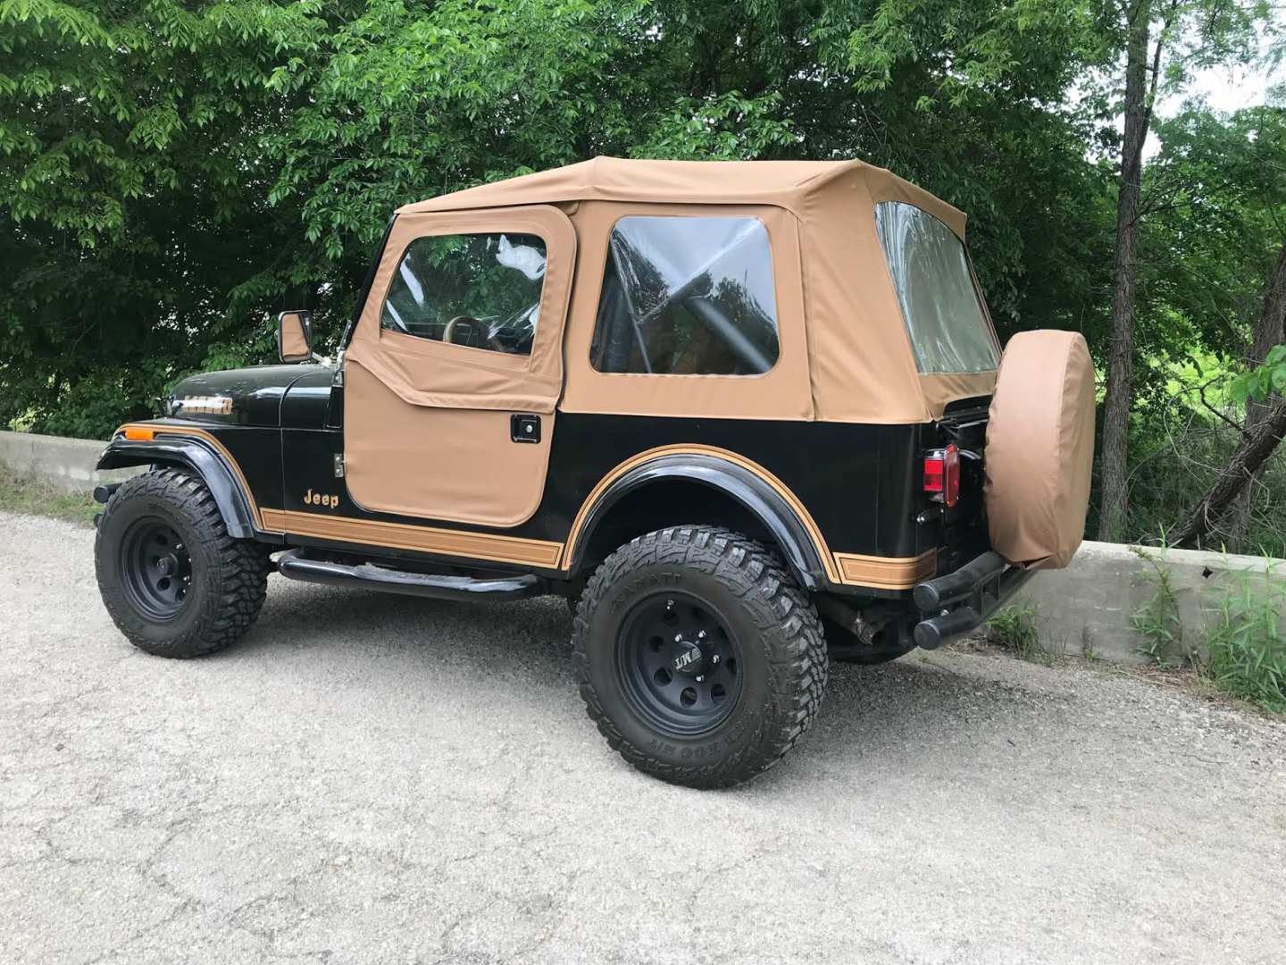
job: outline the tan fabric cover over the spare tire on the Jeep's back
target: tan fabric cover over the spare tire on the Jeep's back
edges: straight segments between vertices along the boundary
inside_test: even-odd
[[[1080,546],[1094,462],[1094,364],[1076,332],[1022,332],[1004,347],[986,426],[992,548],[1028,569]]]

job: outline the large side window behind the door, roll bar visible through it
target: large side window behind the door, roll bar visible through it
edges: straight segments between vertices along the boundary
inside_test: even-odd
[[[768,230],[755,217],[622,217],[590,344],[599,372],[755,376],[778,355]]]

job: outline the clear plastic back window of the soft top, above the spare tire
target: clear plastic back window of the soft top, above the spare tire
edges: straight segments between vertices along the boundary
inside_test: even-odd
[[[876,205],[876,230],[916,367],[921,372],[990,372],[999,365],[964,243],[955,232],[901,201]]]

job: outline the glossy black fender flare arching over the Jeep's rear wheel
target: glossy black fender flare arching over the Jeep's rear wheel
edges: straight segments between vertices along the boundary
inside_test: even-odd
[[[697,482],[738,503],[772,534],[791,573],[805,589],[826,588],[827,570],[822,558],[824,547],[817,546],[808,526],[784,497],[751,470],[705,453],[657,455],[613,479],[598,494],[589,511],[583,511],[584,520],[575,530],[567,570],[570,573],[580,570],[585,547],[616,503],[649,484],[667,480]]]

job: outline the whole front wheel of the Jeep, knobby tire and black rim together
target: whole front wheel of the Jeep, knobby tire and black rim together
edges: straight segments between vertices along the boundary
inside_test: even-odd
[[[231,645],[267,591],[267,547],[229,537],[210,490],[180,470],[145,472],[112,494],[94,564],[112,620],[157,656]]]

